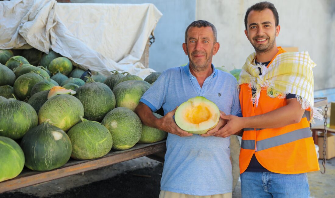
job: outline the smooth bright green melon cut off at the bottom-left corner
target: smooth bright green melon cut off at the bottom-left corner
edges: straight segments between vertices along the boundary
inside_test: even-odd
[[[12,139],[0,136],[0,182],[18,176],[24,167],[24,153]]]

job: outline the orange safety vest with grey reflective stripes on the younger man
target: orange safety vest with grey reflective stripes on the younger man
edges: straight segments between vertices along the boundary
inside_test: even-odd
[[[285,52],[281,47],[278,50],[276,56]],[[240,88],[243,117],[265,114],[286,105],[286,98],[271,98],[265,88],[261,90],[256,107],[251,99],[249,84],[242,84]],[[241,174],[248,168],[254,153],[259,163],[274,173],[298,174],[320,170],[310,130],[310,108],[299,123],[272,129],[244,129],[240,152]]]

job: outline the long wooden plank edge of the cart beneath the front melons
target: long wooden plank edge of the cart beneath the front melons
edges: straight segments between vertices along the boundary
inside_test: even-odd
[[[17,177],[0,182],[0,193],[163,152],[166,150],[165,141],[152,144],[136,144],[134,147],[123,151],[113,150],[97,159],[74,160],[71,158],[64,166],[51,171],[31,171],[25,168]]]

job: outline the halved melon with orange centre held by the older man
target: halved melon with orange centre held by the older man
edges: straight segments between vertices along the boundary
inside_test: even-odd
[[[219,108],[205,97],[190,98],[175,113],[177,125],[189,133],[204,134],[213,129],[220,119]]]

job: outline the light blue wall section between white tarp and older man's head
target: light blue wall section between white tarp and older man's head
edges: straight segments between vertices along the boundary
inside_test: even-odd
[[[71,0],[72,3],[153,3],[163,14],[154,30],[149,67],[156,71],[188,62],[183,52],[185,29],[195,19],[196,0]]]

